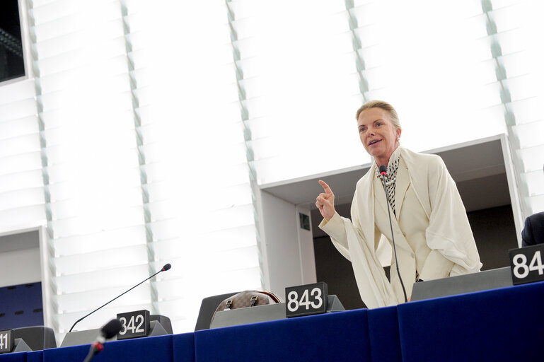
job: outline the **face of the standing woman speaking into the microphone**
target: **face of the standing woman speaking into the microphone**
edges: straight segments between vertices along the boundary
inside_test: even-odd
[[[387,165],[391,153],[398,147],[400,129],[395,129],[389,113],[381,108],[370,108],[359,115],[359,138],[364,149],[378,165]]]

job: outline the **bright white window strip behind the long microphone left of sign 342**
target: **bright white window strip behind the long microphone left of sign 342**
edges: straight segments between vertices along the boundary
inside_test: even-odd
[[[149,250],[141,245],[141,175],[133,172],[139,165],[137,100],[126,65],[122,7],[117,0],[70,5],[52,1],[29,9],[47,182],[48,287],[58,332],[150,270]],[[59,10],[67,12],[59,17]],[[127,309],[151,310],[151,286],[140,286],[76,329],[98,327]]]

